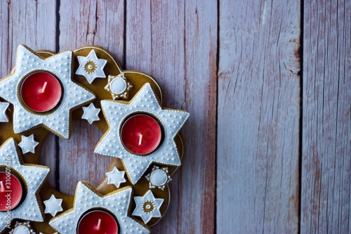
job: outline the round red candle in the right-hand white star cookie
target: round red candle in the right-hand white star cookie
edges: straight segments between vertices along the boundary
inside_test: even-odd
[[[161,126],[150,115],[133,115],[121,128],[121,141],[136,155],[147,155],[161,142]]]

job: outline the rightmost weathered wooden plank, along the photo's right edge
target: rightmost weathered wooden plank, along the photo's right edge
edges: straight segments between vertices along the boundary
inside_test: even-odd
[[[301,233],[351,232],[351,2],[305,1]]]

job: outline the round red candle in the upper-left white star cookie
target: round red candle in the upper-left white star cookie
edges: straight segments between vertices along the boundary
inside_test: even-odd
[[[61,84],[48,72],[34,72],[22,83],[20,96],[30,110],[46,112],[58,105],[62,96]]]

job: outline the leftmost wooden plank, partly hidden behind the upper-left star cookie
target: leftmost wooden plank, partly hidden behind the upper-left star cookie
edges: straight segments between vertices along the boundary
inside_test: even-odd
[[[56,6],[51,1],[1,1],[0,74],[5,77],[15,65],[19,44],[33,50],[55,51]],[[55,186],[55,137],[48,136],[41,152],[41,164],[51,167],[48,182]],[[3,142],[1,142],[2,144]]]

